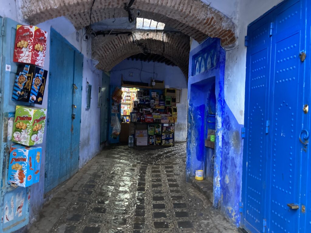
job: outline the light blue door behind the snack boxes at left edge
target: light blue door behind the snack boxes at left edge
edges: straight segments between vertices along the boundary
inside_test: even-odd
[[[14,188],[5,182],[7,180],[9,166],[8,151],[11,141],[7,139],[6,127],[2,128],[2,126],[7,124],[8,112],[15,112],[15,107],[18,103],[11,100],[12,87],[17,70],[17,63],[13,62],[17,22],[8,18],[3,19],[2,17],[0,17],[0,22],[0,174],[2,180],[0,189],[0,212],[2,218],[0,232],[10,233],[17,231],[29,222],[28,196],[30,188]]]

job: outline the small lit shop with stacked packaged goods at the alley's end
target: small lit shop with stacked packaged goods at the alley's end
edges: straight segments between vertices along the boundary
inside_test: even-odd
[[[174,146],[176,98],[180,92],[164,88],[164,81],[150,87],[122,86],[120,142],[133,136],[136,146]]]

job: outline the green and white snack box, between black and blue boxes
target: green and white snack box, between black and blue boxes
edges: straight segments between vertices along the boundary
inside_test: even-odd
[[[26,146],[43,142],[46,109],[16,106],[12,142]]]

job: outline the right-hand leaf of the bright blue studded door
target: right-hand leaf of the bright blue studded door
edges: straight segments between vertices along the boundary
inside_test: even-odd
[[[288,1],[274,13],[272,38],[272,111],[269,228],[271,232],[298,232],[300,211],[305,51],[305,2]],[[304,134],[303,134],[304,135]],[[304,139],[303,139],[304,140]]]

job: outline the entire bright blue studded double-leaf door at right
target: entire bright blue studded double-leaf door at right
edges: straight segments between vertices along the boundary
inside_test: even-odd
[[[248,26],[240,203],[248,232],[311,232],[301,224],[300,195],[309,135],[306,4],[284,1]]]

